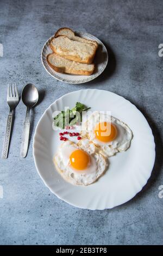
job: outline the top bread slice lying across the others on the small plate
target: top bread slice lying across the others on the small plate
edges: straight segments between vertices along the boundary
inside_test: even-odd
[[[52,51],[66,59],[90,64],[96,53],[96,46],[70,40],[65,35],[59,35],[50,42]]]

